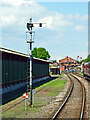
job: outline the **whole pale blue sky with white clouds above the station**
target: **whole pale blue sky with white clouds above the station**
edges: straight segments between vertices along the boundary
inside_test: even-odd
[[[86,1],[86,2],[85,2]],[[1,0],[0,46],[29,54],[26,24],[46,23],[33,28],[33,48],[44,47],[51,60],[88,55],[88,1]]]

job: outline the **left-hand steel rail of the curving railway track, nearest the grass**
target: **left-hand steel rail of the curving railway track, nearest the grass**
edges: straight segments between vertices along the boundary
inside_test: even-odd
[[[67,76],[68,76],[68,75],[67,75]],[[69,76],[68,76],[68,77],[69,77]],[[65,106],[65,104],[67,103],[67,101],[68,101],[68,99],[69,99],[69,97],[70,97],[70,95],[71,95],[71,93],[72,93],[72,90],[73,90],[73,87],[74,87],[74,82],[71,80],[70,77],[69,77],[69,79],[70,79],[70,81],[71,81],[71,83],[72,83],[71,88],[70,88],[70,91],[69,91],[66,99],[64,100],[63,104],[60,106],[60,108],[58,109],[58,111],[57,111],[57,112],[55,113],[55,115],[53,116],[52,120],[55,120],[55,119],[56,119],[56,117],[58,116],[58,114],[60,113],[60,111],[63,109],[63,107]]]

